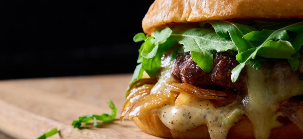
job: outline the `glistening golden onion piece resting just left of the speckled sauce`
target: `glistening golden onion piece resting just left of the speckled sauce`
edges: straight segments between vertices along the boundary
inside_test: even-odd
[[[131,120],[135,116],[144,116],[152,113],[152,110],[159,109],[165,105],[175,102],[179,93],[159,91],[146,95],[131,108],[128,118]]]

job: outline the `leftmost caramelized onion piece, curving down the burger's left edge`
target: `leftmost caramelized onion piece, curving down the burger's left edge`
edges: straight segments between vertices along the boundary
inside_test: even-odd
[[[138,102],[139,99],[143,98],[145,95],[149,95],[153,86],[154,85],[143,85],[130,90],[130,94],[127,96],[122,107],[122,112],[120,116],[121,121],[123,121],[126,114],[130,111],[134,104]]]

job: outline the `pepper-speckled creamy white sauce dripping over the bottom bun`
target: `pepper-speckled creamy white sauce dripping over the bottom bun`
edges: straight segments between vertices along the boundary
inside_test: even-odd
[[[161,121],[172,131],[185,132],[205,124],[211,139],[225,139],[228,130],[244,114],[238,104],[215,108],[209,100],[198,98],[179,106],[164,106],[158,111]]]

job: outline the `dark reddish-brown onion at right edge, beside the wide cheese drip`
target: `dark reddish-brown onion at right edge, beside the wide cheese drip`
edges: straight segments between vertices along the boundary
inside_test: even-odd
[[[281,102],[280,110],[303,132],[303,100],[288,100]]]

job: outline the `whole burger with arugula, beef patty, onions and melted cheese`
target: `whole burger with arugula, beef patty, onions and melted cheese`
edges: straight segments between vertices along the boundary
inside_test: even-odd
[[[156,0],[121,120],[165,138],[302,139],[302,17],[300,0]]]

